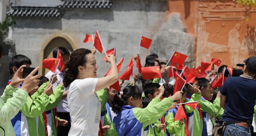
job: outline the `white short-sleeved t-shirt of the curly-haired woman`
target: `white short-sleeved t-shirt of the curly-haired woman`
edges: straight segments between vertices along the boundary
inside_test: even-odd
[[[98,78],[76,79],[67,94],[71,116],[69,136],[98,136],[101,104],[94,93]]]

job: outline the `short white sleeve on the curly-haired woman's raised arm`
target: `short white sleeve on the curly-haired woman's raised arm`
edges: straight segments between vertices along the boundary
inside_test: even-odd
[[[84,95],[94,93],[98,78],[84,78],[77,84],[77,87]]]

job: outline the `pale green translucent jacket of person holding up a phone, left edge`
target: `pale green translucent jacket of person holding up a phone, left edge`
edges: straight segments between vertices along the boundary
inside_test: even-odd
[[[11,119],[19,112],[22,105],[27,102],[28,93],[20,88],[7,85],[0,98],[0,136],[15,136]]]

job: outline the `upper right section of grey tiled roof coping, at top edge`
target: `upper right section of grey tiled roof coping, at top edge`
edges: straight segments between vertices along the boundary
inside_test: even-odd
[[[60,9],[110,9],[112,3],[109,0],[76,0],[76,1],[63,1],[58,8]]]

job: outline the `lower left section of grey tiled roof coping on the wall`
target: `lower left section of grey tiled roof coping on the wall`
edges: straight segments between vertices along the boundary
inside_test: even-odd
[[[61,12],[55,7],[12,6],[6,14],[14,17],[60,17]]]

